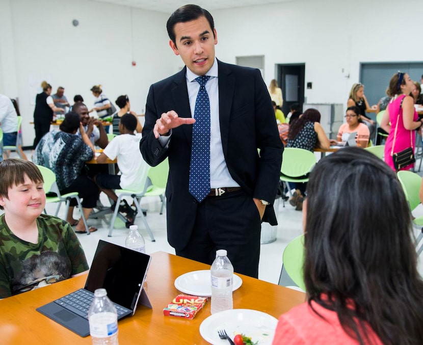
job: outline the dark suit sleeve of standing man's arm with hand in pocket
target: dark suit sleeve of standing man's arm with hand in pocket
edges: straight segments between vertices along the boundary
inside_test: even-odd
[[[280,178],[283,145],[272,101],[259,70],[255,70],[255,128],[260,157],[253,196],[273,204]]]

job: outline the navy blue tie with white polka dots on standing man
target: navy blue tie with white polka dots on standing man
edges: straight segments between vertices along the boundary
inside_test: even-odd
[[[210,101],[205,89],[209,75],[195,80],[200,90],[195,101],[189,191],[199,202],[210,193]]]

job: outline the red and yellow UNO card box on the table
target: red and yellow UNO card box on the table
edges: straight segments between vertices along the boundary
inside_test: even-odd
[[[165,316],[178,316],[192,320],[202,309],[205,302],[207,302],[207,297],[178,295],[173,299],[172,303],[163,308],[163,314]]]

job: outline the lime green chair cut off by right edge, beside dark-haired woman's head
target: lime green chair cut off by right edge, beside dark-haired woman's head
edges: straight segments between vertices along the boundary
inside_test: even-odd
[[[398,179],[403,187],[405,197],[408,201],[410,211],[412,212],[419,204],[420,198],[418,196],[421,184],[421,177],[412,171],[401,170],[397,173]],[[421,232],[415,242],[417,256],[423,251],[423,244],[418,247],[419,242],[423,238],[423,216],[413,219],[415,228],[420,229]]]

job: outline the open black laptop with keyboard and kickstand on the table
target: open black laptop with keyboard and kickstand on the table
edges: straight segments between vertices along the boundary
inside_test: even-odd
[[[85,337],[90,334],[88,309],[97,288],[107,290],[118,320],[134,315],[140,297],[140,303],[151,308],[143,289],[150,259],[150,255],[99,240],[84,288],[36,310]]]

